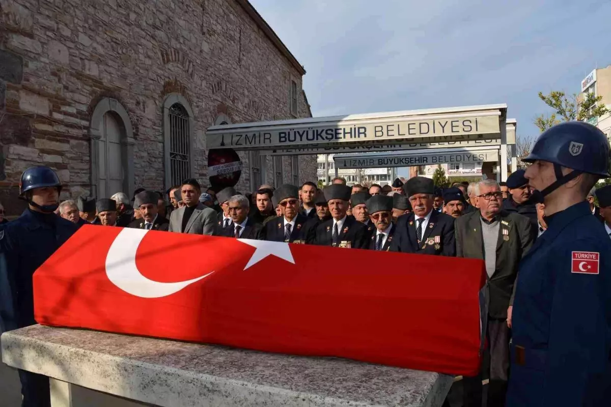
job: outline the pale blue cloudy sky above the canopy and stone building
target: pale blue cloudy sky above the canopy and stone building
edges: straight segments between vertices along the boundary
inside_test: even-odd
[[[507,103],[518,135],[611,63],[609,0],[251,0],[316,116]]]

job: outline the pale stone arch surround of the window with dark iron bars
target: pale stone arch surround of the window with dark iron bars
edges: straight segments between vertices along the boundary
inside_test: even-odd
[[[164,171],[165,171],[165,189],[168,189],[174,183],[172,181],[172,154],[174,153],[171,150],[171,129],[172,123],[170,120],[170,108],[174,106],[174,104],[180,104],[188,116],[188,151],[186,151],[186,156],[188,156],[188,174],[186,175],[188,178],[191,178],[195,173],[195,162],[194,162],[194,146],[195,146],[195,118],[193,114],[193,109],[191,109],[191,104],[185,98],[185,96],[180,93],[170,93],[166,96],[163,101],[163,147],[164,147]]]

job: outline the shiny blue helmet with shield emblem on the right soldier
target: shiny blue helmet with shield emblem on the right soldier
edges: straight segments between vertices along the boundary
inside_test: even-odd
[[[609,141],[595,126],[567,121],[544,131],[524,162],[542,160],[582,173],[609,177]]]

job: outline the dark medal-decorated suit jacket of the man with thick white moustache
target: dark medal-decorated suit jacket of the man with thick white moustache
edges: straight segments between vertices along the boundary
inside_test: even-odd
[[[454,218],[450,215],[431,212],[428,225],[422,231],[422,240],[418,243],[416,237],[416,222],[414,212],[402,215],[397,220],[397,230],[390,245],[390,251],[417,254],[441,254],[455,256]],[[439,242],[435,238],[439,236]]]

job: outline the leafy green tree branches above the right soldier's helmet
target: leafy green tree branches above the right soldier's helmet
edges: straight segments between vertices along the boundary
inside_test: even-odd
[[[609,113],[609,109],[601,103],[602,96],[595,96],[594,93],[584,93],[579,98],[576,94],[566,96],[565,92],[554,90],[549,95],[539,92],[539,98],[554,110],[549,116],[539,115],[535,118],[534,123],[541,132],[561,121],[583,121]]]

